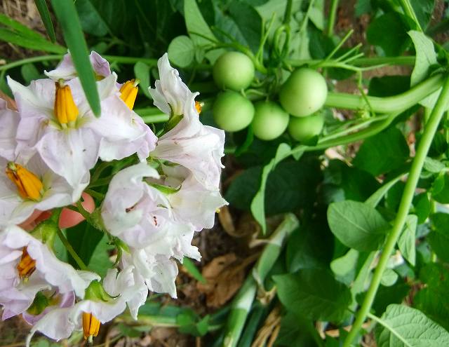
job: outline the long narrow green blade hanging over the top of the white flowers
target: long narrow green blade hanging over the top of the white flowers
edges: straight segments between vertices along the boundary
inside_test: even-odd
[[[89,60],[86,40],[81,30],[74,3],[72,0],[52,0],[51,4],[62,28],[65,42],[69,46],[70,55],[72,55],[86,99],[91,106],[93,114],[100,116],[100,97],[98,96],[97,84],[95,83],[95,74]]]

